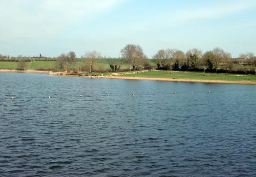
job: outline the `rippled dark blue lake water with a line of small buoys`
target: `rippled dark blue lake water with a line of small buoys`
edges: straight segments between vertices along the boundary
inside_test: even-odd
[[[255,104],[254,85],[0,73],[0,176],[255,176]]]

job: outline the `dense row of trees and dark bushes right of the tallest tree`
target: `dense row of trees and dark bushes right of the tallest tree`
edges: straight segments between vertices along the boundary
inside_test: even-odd
[[[191,49],[186,53],[177,49],[162,49],[153,58],[156,59],[157,69],[162,70],[254,74],[253,67],[256,65],[256,57],[251,52],[240,54],[239,58],[232,58],[230,53],[220,48],[205,53],[200,49]],[[251,68],[233,70],[235,64],[248,65]]]

